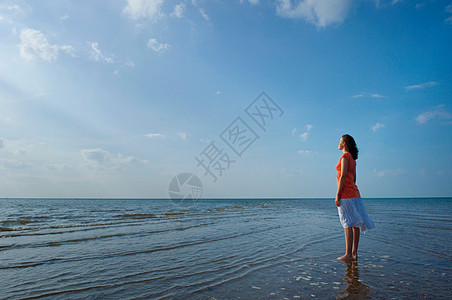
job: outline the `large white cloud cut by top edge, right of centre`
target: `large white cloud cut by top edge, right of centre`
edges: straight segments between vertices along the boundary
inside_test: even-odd
[[[304,19],[318,27],[342,23],[350,0],[277,0],[276,12],[285,18]]]

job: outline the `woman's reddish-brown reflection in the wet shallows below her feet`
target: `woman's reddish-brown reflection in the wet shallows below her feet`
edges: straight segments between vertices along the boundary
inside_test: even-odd
[[[359,281],[358,262],[350,261],[346,266],[344,281],[347,287],[337,294],[336,299],[369,299],[370,287]]]

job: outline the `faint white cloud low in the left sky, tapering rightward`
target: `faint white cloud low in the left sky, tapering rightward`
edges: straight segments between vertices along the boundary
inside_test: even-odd
[[[82,149],[81,154],[91,167],[117,169],[129,164],[147,163],[146,160],[140,160],[133,156],[123,156],[121,153],[113,155],[102,148]]]

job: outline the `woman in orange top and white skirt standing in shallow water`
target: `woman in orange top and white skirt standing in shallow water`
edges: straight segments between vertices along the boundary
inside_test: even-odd
[[[337,193],[336,206],[345,231],[345,254],[338,257],[342,261],[358,260],[360,230],[364,233],[375,227],[367,215],[358,187],[356,186],[356,160],[358,148],[355,140],[348,134],[339,141],[343,154],[336,166]]]

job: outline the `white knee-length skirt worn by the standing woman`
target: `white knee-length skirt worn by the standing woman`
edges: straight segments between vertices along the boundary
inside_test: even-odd
[[[341,199],[337,208],[342,227],[359,227],[365,233],[367,230],[375,228],[372,219],[367,215],[361,198]]]

